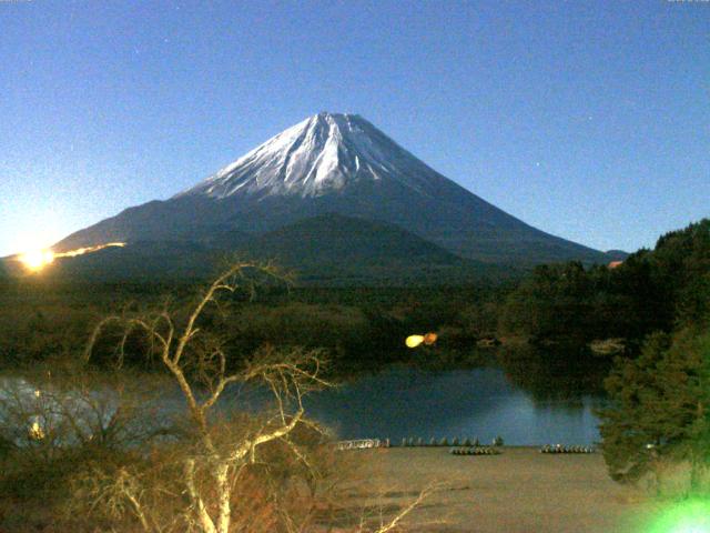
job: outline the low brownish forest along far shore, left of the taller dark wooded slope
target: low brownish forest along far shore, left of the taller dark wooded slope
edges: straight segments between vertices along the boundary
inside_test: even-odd
[[[205,320],[219,322],[231,356],[239,360],[264,345],[320,348],[338,372],[376,370],[419,358],[408,350],[413,333],[442,333],[440,364],[460,363],[468,348],[496,330],[496,302],[506,286],[442,288],[257,288],[253,298],[235,294],[229,319],[219,308]],[[80,353],[91,329],[108,314],[163,304],[180,314],[195,295],[195,284],[55,284],[13,281],[0,288],[0,366],[33,365]],[[143,346],[130,339],[128,352]],[[132,345],[133,342],[135,345]],[[106,344],[108,345],[108,344]],[[111,353],[105,354],[111,358]],[[130,359],[130,358],[129,358]]]

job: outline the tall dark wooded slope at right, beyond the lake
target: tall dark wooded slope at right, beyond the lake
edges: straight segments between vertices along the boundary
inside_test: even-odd
[[[499,330],[542,342],[626,338],[639,343],[708,313],[710,220],[662,235],[621,264],[541,265],[501,304]]]

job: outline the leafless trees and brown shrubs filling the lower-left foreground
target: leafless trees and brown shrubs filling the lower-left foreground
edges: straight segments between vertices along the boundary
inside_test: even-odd
[[[393,530],[424,492],[389,519],[348,513],[341,486],[351,471],[303,406],[310,392],[331,386],[322,351],[265,344],[230,358],[220,318],[231,314],[230,295],[261,278],[278,281],[270,268],[237,263],[186,308],[108,314],[73,361],[3,378],[2,527]],[[234,388],[261,400],[237,394],[221,410]]]

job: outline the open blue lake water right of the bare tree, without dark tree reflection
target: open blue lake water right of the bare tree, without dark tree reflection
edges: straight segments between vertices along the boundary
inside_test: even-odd
[[[554,384],[551,384],[554,386]],[[600,440],[595,396],[536,401],[499,369],[442,372],[390,369],[310,399],[312,418],[342,439],[474,439],[506,444],[585,444]]]

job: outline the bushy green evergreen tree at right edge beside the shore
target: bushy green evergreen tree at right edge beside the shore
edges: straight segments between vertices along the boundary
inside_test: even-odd
[[[659,475],[666,461],[688,461],[691,490],[710,461],[710,329],[655,333],[636,360],[619,360],[605,386],[600,419],[612,479]]]

